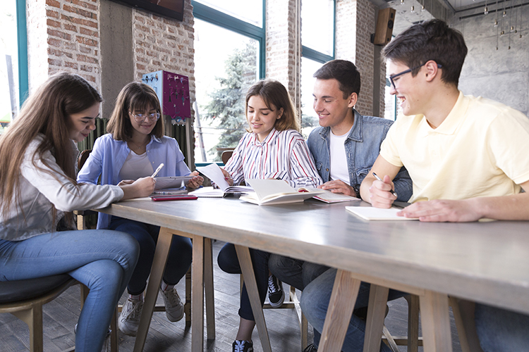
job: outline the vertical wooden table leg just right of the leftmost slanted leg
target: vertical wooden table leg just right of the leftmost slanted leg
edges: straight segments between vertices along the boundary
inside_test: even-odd
[[[193,236],[191,351],[204,351],[204,237]]]

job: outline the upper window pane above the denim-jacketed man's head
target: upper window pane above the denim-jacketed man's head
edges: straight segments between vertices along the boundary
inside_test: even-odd
[[[301,1],[301,44],[320,53],[333,55],[333,0]]]

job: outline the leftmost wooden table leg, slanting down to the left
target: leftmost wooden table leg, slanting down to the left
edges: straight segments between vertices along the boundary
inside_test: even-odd
[[[145,346],[147,332],[149,332],[149,326],[151,324],[152,312],[154,311],[156,299],[158,298],[158,289],[162,283],[172,241],[172,230],[166,229],[165,227],[160,228],[156,250],[154,251],[154,259],[152,260],[149,284],[147,284],[147,291],[145,292],[145,303],[143,303],[140,326],[138,327],[138,333],[136,334],[134,343],[134,352],[142,352]]]

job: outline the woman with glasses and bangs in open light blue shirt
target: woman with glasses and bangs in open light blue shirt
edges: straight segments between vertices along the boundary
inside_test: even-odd
[[[188,188],[200,187],[198,172],[190,172],[174,138],[166,137],[164,119],[154,89],[140,82],[127,84],[118,95],[107,125],[108,134],[96,139],[94,149],[78,174],[78,182],[97,184],[130,184],[140,177],[152,175],[161,163],[158,175],[193,175]],[[143,291],[147,286],[159,227],[99,213],[98,229],[111,229],[131,234],[140,243],[140,258],[128,283],[128,299],[118,320],[123,334],[135,336],[143,308]],[[186,275],[192,257],[190,239],[174,236],[160,291],[166,316],[171,322],[183,318],[183,303],[174,289]]]

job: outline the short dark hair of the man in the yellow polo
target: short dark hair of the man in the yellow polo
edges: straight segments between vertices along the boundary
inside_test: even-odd
[[[409,27],[382,50],[385,59],[415,68],[433,60],[442,65],[441,80],[457,84],[468,49],[463,34],[442,20],[429,20]],[[412,71],[415,76],[419,68]]]

